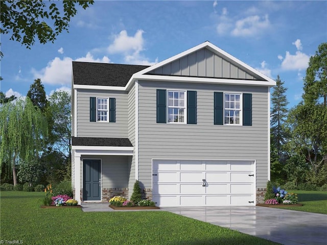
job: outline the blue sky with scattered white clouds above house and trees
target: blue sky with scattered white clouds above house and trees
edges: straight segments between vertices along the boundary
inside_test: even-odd
[[[37,78],[48,95],[70,90],[72,61],[151,65],[208,40],[272,79],[279,74],[292,107],[310,56],[327,41],[327,1],[96,1],[55,43],[28,50],[9,38],[1,37],[7,96],[26,96]]]

